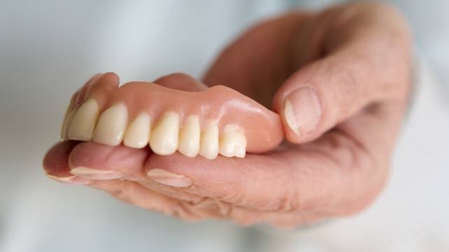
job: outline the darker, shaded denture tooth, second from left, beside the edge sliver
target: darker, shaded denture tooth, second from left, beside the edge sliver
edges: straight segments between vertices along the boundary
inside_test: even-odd
[[[69,139],[90,141],[97,123],[99,107],[94,98],[87,100],[78,109],[69,127]]]

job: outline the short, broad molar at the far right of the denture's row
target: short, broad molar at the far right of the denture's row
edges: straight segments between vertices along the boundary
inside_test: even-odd
[[[246,152],[246,138],[238,126],[229,124],[224,127],[224,134],[220,138],[220,154],[222,156],[244,158]]]

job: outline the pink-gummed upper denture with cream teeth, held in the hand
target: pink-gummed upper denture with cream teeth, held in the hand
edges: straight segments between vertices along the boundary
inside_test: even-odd
[[[269,151],[283,137],[278,114],[233,89],[191,92],[149,82],[113,89],[94,84],[83,102],[71,101],[62,126],[62,140],[149,145],[159,155],[208,159]]]

